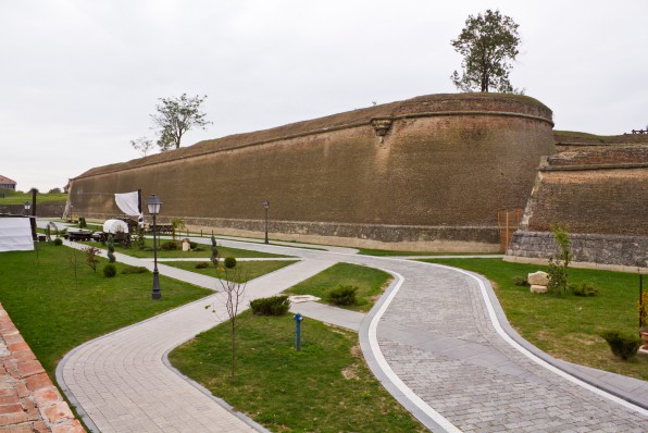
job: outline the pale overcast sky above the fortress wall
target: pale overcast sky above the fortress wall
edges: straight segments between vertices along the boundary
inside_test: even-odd
[[[646,127],[645,0],[0,0],[0,174],[47,191],[138,158],[158,98],[184,92],[213,122],[184,146],[454,92],[450,40],[489,8],[520,25],[511,82],[557,129]]]

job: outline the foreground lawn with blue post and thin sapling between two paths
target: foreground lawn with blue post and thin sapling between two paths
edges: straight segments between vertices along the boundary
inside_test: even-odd
[[[274,432],[423,432],[366,367],[354,332],[291,316],[239,319],[236,379],[228,324],[171,352],[171,362]]]

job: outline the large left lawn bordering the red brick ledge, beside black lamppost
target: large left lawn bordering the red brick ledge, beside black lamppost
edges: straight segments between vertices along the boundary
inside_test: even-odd
[[[72,348],[213,292],[160,275],[162,299],[151,300],[152,276],[103,277],[85,264],[85,253],[52,243],[35,251],[0,252],[0,302],[51,378]],[[78,258],[77,282],[68,259]]]

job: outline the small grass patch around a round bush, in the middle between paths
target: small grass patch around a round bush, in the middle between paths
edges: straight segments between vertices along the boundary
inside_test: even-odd
[[[340,307],[366,312],[371,310],[390,282],[391,275],[378,269],[359,264],[336,263],[317,275],[288,288],[285,293],[290,295],[313,295],[322,298],[321,302],[327,304],[328,293],[337,288],[338,285],[357,286],[357,304]]]

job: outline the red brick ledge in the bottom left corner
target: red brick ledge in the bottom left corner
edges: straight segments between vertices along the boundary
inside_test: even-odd
[[[85,432],[1,304],[0,432]]]

